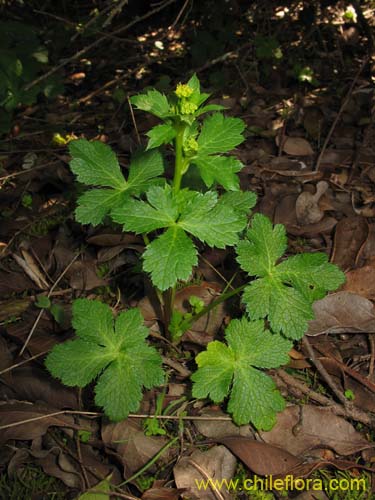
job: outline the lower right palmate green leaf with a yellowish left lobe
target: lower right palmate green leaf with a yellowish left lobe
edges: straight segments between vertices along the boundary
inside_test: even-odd
[[[264,330],[263,321],[232,320],[225,332],[227,345],[210,342],[198,354],[198,370],[192,375],[193,396],[220,403],[229,395],[228,411],[238,424],[252,422],[269,430],[285,402],[273,380],[257,368],[273,368],[288,362],[292,343]]]

